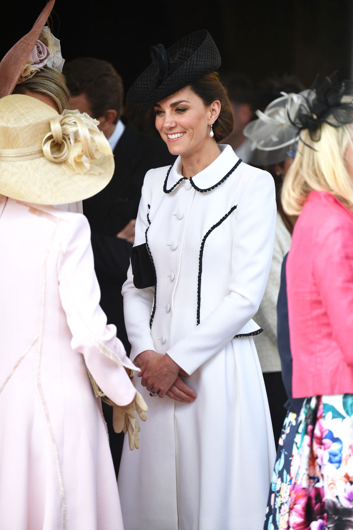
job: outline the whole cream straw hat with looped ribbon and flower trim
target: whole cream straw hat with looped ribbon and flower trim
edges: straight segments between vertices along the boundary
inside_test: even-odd
[[[0,99],[0,194],[35,204],[92,197],[111,180],[111,147],[88,114],[31,96]]]

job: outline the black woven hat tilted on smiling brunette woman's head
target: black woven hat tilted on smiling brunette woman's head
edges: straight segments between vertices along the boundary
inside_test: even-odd
[[[152,64],[126,95],[132,107],[146,109],[221,65],[220,52],[207,30],[191,33],[168,50],[162,44],[151,46],[150,52]]]

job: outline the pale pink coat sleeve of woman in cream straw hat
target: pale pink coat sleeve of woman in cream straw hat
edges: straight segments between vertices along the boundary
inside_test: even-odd
[[[59,295],[73,335],[71,347],[84,355],[86,366],[101,390],[117,405],[134,399],[135,388],[125,367],[136,369],[126,357],[114,325],[106,325],[94,271],[89,224],[75,214],[62,223],[58,262]],[[88,375],[87,375],[88,377]]]

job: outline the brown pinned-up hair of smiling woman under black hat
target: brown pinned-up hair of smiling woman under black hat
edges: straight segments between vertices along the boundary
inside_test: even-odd
[[[220,115],[213,123],[212,128],[216,142],[227,138],[233,130],[233,112],[227,90],[220,82],[218,72],[206,74],[189,86],[202,99],[205,106],[210,105],[215,100],[221,102]]]

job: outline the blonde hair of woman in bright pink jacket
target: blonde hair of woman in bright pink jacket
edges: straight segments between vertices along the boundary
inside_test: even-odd
[[[285,212],[300,215],[307,196],[313,190],[332,193],[353,211],[353,180],[345,165],[346,149],[349,144],[353,145],[351,125],[332,127],[323,123],[318,142],[310,138],[307,129],[302,131],[301,140],[283,183],[282,205]]]

